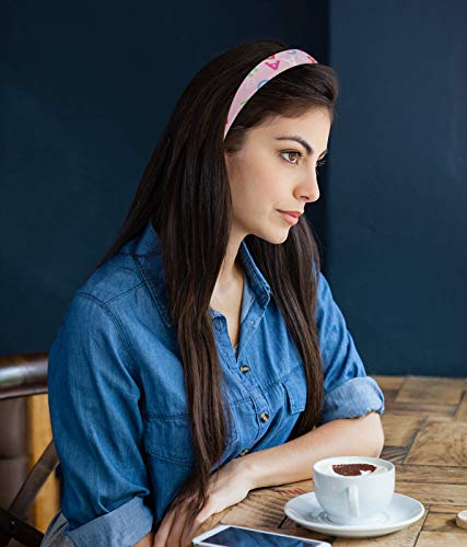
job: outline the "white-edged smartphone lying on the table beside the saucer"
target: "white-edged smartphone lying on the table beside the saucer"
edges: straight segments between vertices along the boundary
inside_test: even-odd
[[[313,545],[314,547],[331,547],[330,544],[317,539],[288,536],[276,532],[262,532],[261,529],[231,526],[229,524],[217,526],[195,537],[192,545],[221,545],[223,547],[302,547],[303,545]]]

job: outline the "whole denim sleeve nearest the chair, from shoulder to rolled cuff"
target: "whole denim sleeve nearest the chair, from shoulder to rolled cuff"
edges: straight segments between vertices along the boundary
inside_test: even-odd
[[[152,528],[141,398],[128,340],[101,301],[72,300],[49,353],[61,511],[78,546],[133,545]]]

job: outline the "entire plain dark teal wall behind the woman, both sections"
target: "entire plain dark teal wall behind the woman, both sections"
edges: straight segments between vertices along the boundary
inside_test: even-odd
[[[192,74],[278,37],[339,74],[307,212],[366,370],[465,375],[465,2],[182,5],[4,2],[0,354],[49,349]]]

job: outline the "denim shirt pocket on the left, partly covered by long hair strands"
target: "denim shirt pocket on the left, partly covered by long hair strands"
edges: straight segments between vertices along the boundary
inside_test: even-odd
[[[232,420],[231,428],[229,428],[227,423],[225,453],[238,437],[235,419],[232,418]],[[185,466],[191,466],[194,463],[192,438],[188,414],[148,416],[143,427],[143,443],[145,451],[159,458]]]

